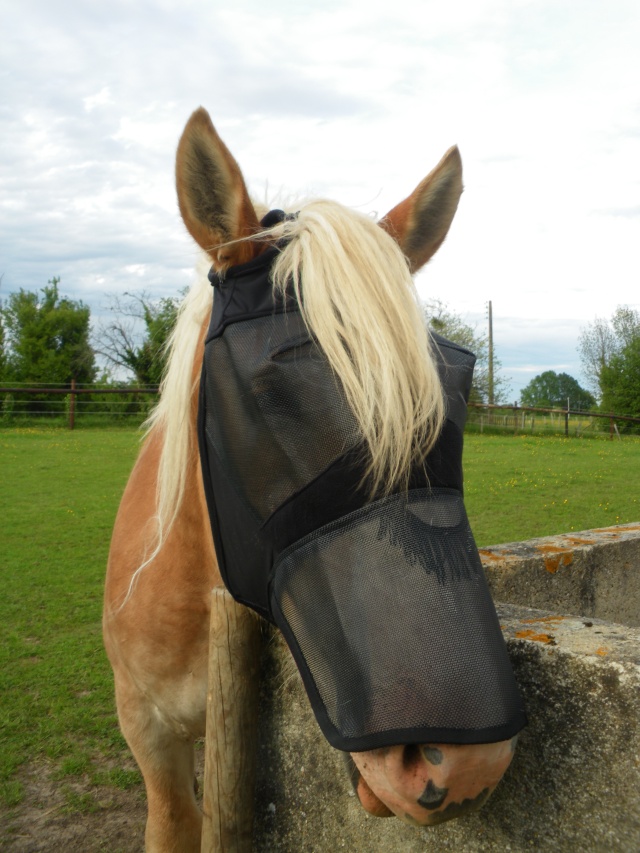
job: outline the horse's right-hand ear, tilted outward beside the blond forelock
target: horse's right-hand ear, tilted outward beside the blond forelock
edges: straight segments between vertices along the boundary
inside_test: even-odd
[[[406,255],[411,272],[417,272],[440,247],[461,194],[462,160],[454,145],[411,195],[380,221]]]

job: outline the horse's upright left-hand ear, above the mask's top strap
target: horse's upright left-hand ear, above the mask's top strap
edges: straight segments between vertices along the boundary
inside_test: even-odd
[[[262,246],[245,240],[260,229],[240,167],[202,107],[184,129],[176,154],[176,187],[187,230],[218,269],[251,260]]]

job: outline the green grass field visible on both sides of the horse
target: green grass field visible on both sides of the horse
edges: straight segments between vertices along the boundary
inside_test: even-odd
[[[67,808],[91,785],[140,784],[116,723],[100,613],[133,430],[0,430],[0,786],[41,765]],[[466,501],[479,545],[640,519],[640,439],[470,435]],[[78,794],[71,780],[87,782]],[[66,787],[65,787],[66,786]]]

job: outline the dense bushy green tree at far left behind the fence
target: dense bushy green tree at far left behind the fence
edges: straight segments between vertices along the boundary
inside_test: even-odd
[[[93,382],[90,311],[61,297],[54,277],[38,292],[20,289],[0,308],[4,326],[5,381],[69,385]]]

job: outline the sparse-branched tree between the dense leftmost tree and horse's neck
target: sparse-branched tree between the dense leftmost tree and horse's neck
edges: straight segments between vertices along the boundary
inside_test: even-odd
[[[114,367],[132,373],[139,385],[158,385],[184,293],[155,301],[145,294],[124,297],[113,300],[114,318],[100,329],[96,350]]]

